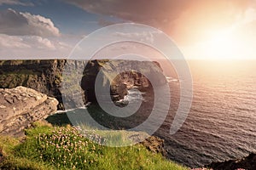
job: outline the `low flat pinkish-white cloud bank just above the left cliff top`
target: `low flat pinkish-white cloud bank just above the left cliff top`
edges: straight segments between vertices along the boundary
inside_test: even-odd
[[[9,36],[0,34],[0,59],[33,59],[67,57],[72,46],[39,36]]]

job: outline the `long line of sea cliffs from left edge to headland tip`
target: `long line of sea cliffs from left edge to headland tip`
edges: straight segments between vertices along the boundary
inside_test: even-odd
[[[67,86],[61,89],[64,68],[71,77],[77,74],[81,74],[82,77],[81,80],[72,78],[69,82],[66,80]],[[139,71],[146,73],[147,77],[138,72],[138,68]],[[160,65],[156,62],[101,59],[89,61],[87,65],[84,65],[84,61],[63,59],[5,60],[0,61],[0,88],[24,86],[35,89],[58,99],[58,109],[64,109],[61,91],[65,90],[67,92],[65,99],[69,104],[66,109],[71,109],[84,105],[88,101],[96,102],[95,81],[99,71],[102,71],[100,77],[102,84],[99,86],[105,87],[110,84],[110,94],[113,100],[123,99],[127,94],[127,89],[135,86],[141,91],[151,89],[148,79],[159,84],[166,83]],[[115,75],[113,71],[119,71],[120,74]],[[109,81],[111,79],[113,79],[112,82]],[[77,100],[78,95],[82,95],[83,103]]]

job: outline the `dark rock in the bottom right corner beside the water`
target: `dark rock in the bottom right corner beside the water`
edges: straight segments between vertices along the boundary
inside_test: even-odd
[[[251,153],[249,156],[242,158],[240,160],[230,160],[224,162],[212,162],[207,167],[212,167],[212,169],[221,170],[235,170],[235,169],[256,169],[256,154]]]

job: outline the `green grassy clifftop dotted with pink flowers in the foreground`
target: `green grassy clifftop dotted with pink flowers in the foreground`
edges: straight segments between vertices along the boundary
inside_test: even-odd
[[[123,139],[120,135],[117,140]],[[108,147],[106,139],[88,133],[84,138],[74,127],[52,127],[41,123],[26,130],[26,140],[0,137],[4,159],[0,169],[187,169],[166,160],[143,145]]]

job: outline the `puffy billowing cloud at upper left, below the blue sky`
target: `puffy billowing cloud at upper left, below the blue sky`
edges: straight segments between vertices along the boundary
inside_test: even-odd
[[[0,33],[10,36],[60,36],[59,29],[50,19],[41,15],[17,12],[10,8],[0,11]]]

